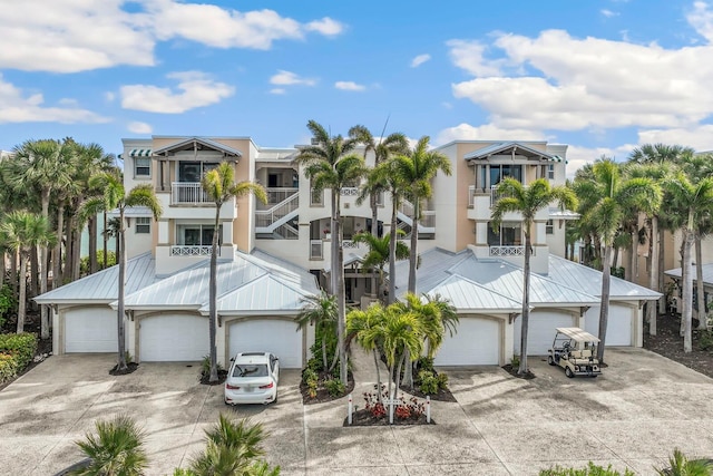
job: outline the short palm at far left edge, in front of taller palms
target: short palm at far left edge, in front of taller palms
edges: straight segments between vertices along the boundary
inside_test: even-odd
[[[30,259],[32,249],[52,244],[55,235],[50,231],[47,218],[25,211],[16,211],[7,215],[0,230],[4,237],[4,244],[20,254],[20,297],[18,299],[17,333],[22,333],[27,314],[27,262]]]

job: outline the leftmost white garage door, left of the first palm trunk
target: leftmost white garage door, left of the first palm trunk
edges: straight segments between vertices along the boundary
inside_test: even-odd
[[[65,352],[118,352],[116,311],[72,309],[65,313]]]

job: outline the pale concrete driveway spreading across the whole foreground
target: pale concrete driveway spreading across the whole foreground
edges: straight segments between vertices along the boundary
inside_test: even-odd
[[[113,356],[52,357],[0,391],[0,475],[52,475],[80,458],[74,441],[97,418],[120,411],[148,434],[149,475],[186,466],[226,410],[264,422],[283,475],[536,475],[588,460],[649,475],[674,447],[713,456],[712,379],[645,350],[607,352],[597,379],[567,379],[540,359],[528,381],[447,369],[458,402],[433,402],[438,425],[392,428],[342,427],[345,399],[303,406],[296,371],[283,371],[277,405],[233,410],[195,366],[144,363],[115,378]]]

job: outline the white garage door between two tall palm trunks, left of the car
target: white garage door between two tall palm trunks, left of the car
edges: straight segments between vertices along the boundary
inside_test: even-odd
[[[145,318],[138,336],[141,362],[193,362],[211,352],[208,319],[201,315]]]

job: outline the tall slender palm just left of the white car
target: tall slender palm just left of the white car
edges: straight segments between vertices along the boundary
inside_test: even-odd
[[[215,204],[215,221],[213,224],[213,244],[211,249],[211,282],[209,293],[209,338],[211,338],[211,382],[218,381],[217,349],[215,334],[217,332],[217,256],[221,234],[221,207],[231,198],[238,198],[248,194],[255,195],[261,202],[267,202],[265,188],[252,182],[235,183],[235,167],[228,162],[222,162],[217,167],[207,172],[201,179],[201,185]]]

